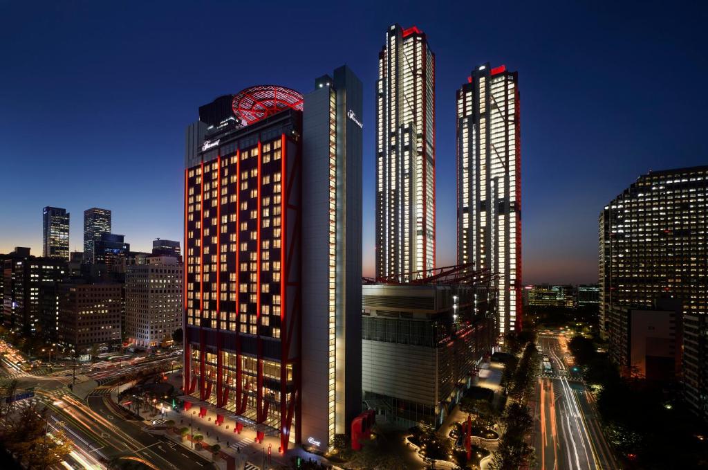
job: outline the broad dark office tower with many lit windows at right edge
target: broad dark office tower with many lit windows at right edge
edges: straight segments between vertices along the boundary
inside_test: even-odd
[[[603,209],[600,272],[610,355],[625,374],[632,371],[630,318],[636,308],[661,308],[673,298],[683,314],[685,397],[708,417],[708,167],[649,172]],[[605,236],[605,233],[608,236]],[[604,278],[604,279],[603,279]],[[640,312],[641,313],[641,312]],[[677,332],[681,325],[673,322]],[[656,347],[656,345],[655,345]],[[649,353],[648,353],[649,354]]]

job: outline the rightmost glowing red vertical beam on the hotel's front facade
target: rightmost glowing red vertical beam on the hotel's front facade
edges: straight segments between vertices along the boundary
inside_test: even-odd
[[[287,203],[285,196],[288,194],[285,185],[287,184],[287,162],[285,161],[285,134],[280,135],[280,452],[285,453],[287,442],[290,440],[290,423],[287,423],[287,359],[290,345],[290,338],[287,337],[287,267],[285,265],[285,246],[287,244]]]

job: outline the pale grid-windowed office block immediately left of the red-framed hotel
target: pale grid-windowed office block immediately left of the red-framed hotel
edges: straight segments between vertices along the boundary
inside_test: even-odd
[[[142,348],[170,345],[182,328],[182,264],[176,257],[151,256],[125,273],[127,341]]]

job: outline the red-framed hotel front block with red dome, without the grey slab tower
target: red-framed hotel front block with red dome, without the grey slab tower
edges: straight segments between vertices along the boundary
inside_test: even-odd
[[[242,91],[185,170],[185,394],[283,452],[302,440],[301,110]]]

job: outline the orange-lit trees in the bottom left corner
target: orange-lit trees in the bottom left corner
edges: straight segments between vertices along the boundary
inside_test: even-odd
[[[17,381],[6,384],[2,397],[13,396]],[[72,443],[64,431],[50,426],[47,408],[31,404],[13,413],[13,403],[0,406],[0,447],[4,447],[25,469],[45,469],[59,464],[72,452]]]

